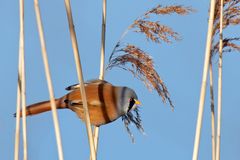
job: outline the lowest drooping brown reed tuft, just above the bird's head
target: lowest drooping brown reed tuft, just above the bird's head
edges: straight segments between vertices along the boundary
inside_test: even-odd
[[[162,97],[163,102],[168,100],[173,109],[174,106],[167,87],[155,70],[153,60],[149,54],[134,45],[127,45],[125,48],[119,49],[118,52],[124,52],[126,54],[112,58],[108,68],[120,67],[130,71],[135,77],[143,81],[149,90],[152,88],[155,89]],[[128,66],[127,63],[131,65]]]

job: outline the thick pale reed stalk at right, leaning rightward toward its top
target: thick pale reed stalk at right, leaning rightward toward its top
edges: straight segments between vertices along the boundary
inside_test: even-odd
[[[199,110],[196,124],[196,133],[194,140],[194,148],[193,148],[193,160],[198,159],[199,152],[199,144],[200,144],[200,136],[201,136],[201,128],[202,128],[202,117],[204,111],[204,103],[206,97],[206,85],[207,85],[207,74],[209,69],[209,61],[210,61],[210,53],[212,46],[212,35],[213,35],[213,22],[214,22],[214,12],[215,12],[215,0],[211,0],[210,4],[210,15],[208,20],[208,33],[207,33],[207,42],[206,42],[206,50],[205,50],[205,59],[204,59],[204,67],[203,67],[203,75],[202,75],[202,85],[199,99]]]

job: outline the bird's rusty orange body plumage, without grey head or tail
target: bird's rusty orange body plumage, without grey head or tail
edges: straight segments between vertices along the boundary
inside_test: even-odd
[[[99,126],[112,122],[122,114],[117,109],[117,87],[111,84],[92,84],[85,86],[88,110],[92,125]],[[79,90],[74,90],[61,98],[69,102],[81,101],[82,97]],[[79,118],[84,121],[84,110],[81,103],[68,106],[76,112]],[[119,115],[121,114],[121,115]]]

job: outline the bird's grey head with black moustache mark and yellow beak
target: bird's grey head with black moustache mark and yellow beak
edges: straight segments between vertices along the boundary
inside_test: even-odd
[[[127,112],[132,111],[137,107],[137,105],[140,105],[137,94],[131,88],[119,87],[118,96],[121,100],[120,104],[118,104],[118,108],[122,114],[126,114]]]

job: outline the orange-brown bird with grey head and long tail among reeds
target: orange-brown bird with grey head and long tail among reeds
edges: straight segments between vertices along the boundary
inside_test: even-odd
[[[57,109],[70,109],[85,121],[83,100],[79,90],[80,85],[75,84],[66,88],[70,91],[66,95],[55,99]],[[135,91],[125,86],[114,86],[111,83],[94,79],[84,83],[90,123],[101,126],[127,115],[141,104]],[[51,110],[50,101],[42,101],[26,107],[26,116],[33,116]],[[22,117],[22,110],[20,117]],[[14,114],[16,117],[16,113]]]

